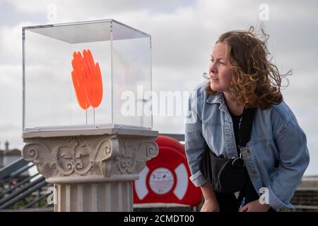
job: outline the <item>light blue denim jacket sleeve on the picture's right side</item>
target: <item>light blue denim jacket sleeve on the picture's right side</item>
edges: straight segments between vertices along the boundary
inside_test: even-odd
[[[275,209],[290,208],[290,204],[302,175],[307,168],[310,157],[304,131],[295,117],[285,123],[283,129],[274,138],[280,163],[273,174],[269,189],[269,205]]]

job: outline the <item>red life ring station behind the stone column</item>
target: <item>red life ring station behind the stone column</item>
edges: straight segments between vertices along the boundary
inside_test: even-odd
[[[184,145],[169,136],[158,136],[157,157],[149,160],[134,182],[134,203],[179,203],[198,206],[201,190],[189,180]]]

